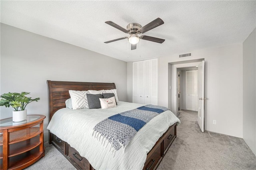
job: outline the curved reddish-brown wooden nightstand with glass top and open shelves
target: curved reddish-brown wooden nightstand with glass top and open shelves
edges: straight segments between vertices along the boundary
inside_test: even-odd
[[[13,123],[0,120],[0,169],[21,170],[44,156],[44,115]]]

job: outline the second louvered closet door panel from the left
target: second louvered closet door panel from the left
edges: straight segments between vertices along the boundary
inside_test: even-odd
[[[138,61],[138,103],[144,104],[144,61]]]

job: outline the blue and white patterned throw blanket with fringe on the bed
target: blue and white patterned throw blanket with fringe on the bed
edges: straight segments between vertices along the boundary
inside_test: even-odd
[[[93,135],[104,142],[104,146],[107,140],[106,147],[110,143],[111,148],[115,150],[121,147],[125,149],[140,128],[166,110],[169,109],[162,106],[146,105],[113,115],[98,123],[93,128]]]

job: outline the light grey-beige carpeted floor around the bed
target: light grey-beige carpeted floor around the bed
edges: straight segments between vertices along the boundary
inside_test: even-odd
[[[256,170],[256,156],[242,138],[202,133],[197,112],[180,111],[178,117],[178,137],[158,170]],[[75,170],[54,146],[45,146],[45,156],[26,170]]]

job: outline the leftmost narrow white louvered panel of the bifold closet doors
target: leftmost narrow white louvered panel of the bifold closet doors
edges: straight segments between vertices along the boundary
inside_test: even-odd
[[[138,62],[132,63],[132,103],[138,103],[139,102],[139,94],[138,94]]]

